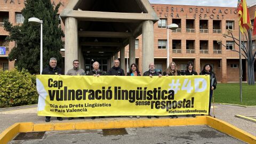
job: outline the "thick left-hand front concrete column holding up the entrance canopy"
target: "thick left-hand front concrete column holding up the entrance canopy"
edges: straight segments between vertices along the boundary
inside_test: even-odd
[[[65,20],[65,74],[73,68],[73,60],[78,59],[77,19],[68,17]]]

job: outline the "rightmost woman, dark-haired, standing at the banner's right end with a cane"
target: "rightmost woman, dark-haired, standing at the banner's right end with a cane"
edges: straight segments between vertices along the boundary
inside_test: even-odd
[[[204,68],[202,69],[200,75],[210,75],[209,116],[211,116],[210,110],[211,110],[212,93],[213,93],[213,90],[216,89],[216,85],[217,85],[217,79],[215,77],[215,74],[212,71],[212,65],[211,64],[204,65]]]

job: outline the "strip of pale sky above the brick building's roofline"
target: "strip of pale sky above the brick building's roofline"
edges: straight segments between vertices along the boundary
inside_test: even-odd
[[[149,0],[149,2],[151,4],[237,7],[237,0]],[[246,3],[250,7],[256,4],[256,0],[247,0]]]

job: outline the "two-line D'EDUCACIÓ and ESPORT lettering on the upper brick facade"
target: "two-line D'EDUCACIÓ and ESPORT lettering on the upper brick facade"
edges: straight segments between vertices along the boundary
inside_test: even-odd
[[[152,6],[160,18],[180,18],[180,14],[186,15],[186,18],[193,19],[224,19],[227,14],[237,14],[235,9],[215,9],[198,7],[173,7],[173,6]]]

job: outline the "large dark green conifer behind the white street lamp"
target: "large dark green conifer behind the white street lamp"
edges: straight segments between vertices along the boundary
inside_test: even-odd
[[[43,67],[49,65],[50,58],[58,60],[62,65],[60,49],[63,48],[64,33],[59,25],[58,4],[55,9],[50,0],[27,0],[25,8],[21,11],[25,18],[22,25],[13,26],[5,21],[4,29],[10,36],[7,41],[15,41],[16,45],[9,54],[9,60],[15,60],[19,70],[28,69],[31,74],[39,74],[40,66],[40,26],[31,25],[28,19],[36,17],[43,20]]]

